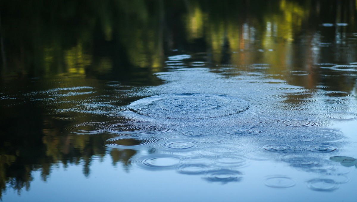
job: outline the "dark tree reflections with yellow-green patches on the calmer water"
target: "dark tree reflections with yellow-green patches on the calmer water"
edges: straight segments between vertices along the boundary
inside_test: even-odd
[[[174,51],[205,52],[213,66],[247,71],[253,70],[246,65],[268,63],[271,68],[263,71],[273,78],[310,89],[349,92],[356,85],[343,72],[316,67],[356,62],[356,36],[351,35],[356,32],[355,1],[12,0],[1,1],[0,7],[1,83],[14,77],[14,91],[16,78],[23,76],[126,79],[134,74],[147,83]],[[291,71],[310,74],[299,77]],[[65,83],[78,81],[101,87],[93,80]],[[39,89],[61,85],[39,84]],[[305,99],[294,96],[286,102]],[[113,165],[128,166],[137,153],[107,150],[103,142],[110,135],[64,133],[66,121],[48,116],[41,104],[2,106],[1,112],[2,191],[7,185],[28,189],[32,171],[41,170],[46,180],[55,165],[83,165],[88,176],[94,158],[110,155]]]

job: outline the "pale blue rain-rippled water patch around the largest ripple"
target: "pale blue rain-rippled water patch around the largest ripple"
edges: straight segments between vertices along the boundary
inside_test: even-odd
[[[171,126],[167,132],[151,137],[165,138],[150,143],[155,153],[133,156],[133,166],[174,169],[200,175],[209,182],[228,183],[241,181],[242,169],[251,161],[273,159],[321,176],[306,182],[311,190],[334,190],[348,181],[345,173],[328,160],[347,139],[328,125],[355,119],[355,112],[345,110],[355,95],[311,92],[246,71],[264,71],[270,68],[268,64],[252,64],[244,71],[227,66],[212,70],[190,66],[190,59],[188,55],[170,57],[166,64],[185,66],[167,67],[171,68],[169,72],[157,73],[169,82],[149,89],[156,95],[127,105],[124,116]],[[291,74],[306,76],[308,72]],[[288,104],[292,107],[287,110]],[[295,186],[297,179],[269,176],[263,183],[288,188]]]

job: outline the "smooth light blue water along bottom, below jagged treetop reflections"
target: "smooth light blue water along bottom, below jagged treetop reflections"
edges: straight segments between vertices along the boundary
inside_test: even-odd
[[[18,196],[14,191],[3,195],[3,201],[354,201],[356,169],[348,174],[351,181],[333,192],[313,191],[307,181],[317,176],[287,167],[281,162],[251,162],[242,169],[239,183],[215,183],[201,176],[182,175],[176,171],[147,171],[133,168],[126,172],[112,167],[111,160],[93,162],[89,178],[80,166],[55,169],[47,182],[34,172],[30,191]],[[272,181],[274,177],[280,178]],[[322,176],[325,177],[325,176]],[[270,182],[269,181],[272,181]],[[292,187],[278,188],[290,185]],[[274,187],[270,187],[271,185]],[[321,186],[321,185],[320,185]],[[56,197],[54,197],[56,196]]]

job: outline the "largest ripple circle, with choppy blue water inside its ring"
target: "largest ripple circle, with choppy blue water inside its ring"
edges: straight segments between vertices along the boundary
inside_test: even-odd
[[[244,112],[249,108],[245,100],[214,94],[162,94],[137,100],[130,109],[157,118],[197,119],[213,118]]]

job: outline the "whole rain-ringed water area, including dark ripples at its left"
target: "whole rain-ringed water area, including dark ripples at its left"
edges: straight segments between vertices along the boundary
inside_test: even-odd
[[[349,106],[356,95],[311,91],[271,79],[260,73],[269,64],[252,64],[243,70],[229,66],[210,69],[203,61],[205,54],[169,57],[165,62],[168,71],[156,73],[166,82],[156,87],[130,88],[108,82],[99,87],[44,90],[27,98],[52,107],[52,116],[72,120],[69,133],[109,134],[104,143],[107,148],[135,150],[129,166],[174,169],[208,182],[228,183],[241,181],[242,169],[252,161],[278,160],[324,176],[306,182],[312,190],[332,191],[346,182],[340,179],[345,173],[329,157],[337,156],[348,140],[328,125],[357,118]],[[356,69],[354,63],[348,68],[319,66],[331,71]],[[98,94],[96,88],[105,88],[106,94]],[[128,98],[137,99],[125,103]],[[84,116],[91,121],[81,121]],[[95,121],[97,117],[100,121]],[[297,179],[268,176],[262,183],[288,188]]]

